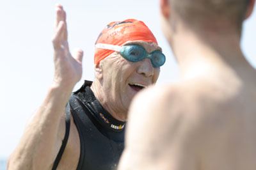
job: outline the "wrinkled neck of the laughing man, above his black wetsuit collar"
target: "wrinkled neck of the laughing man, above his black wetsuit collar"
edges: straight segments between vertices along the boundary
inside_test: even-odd
[[[93,81],[91,89],[102,107],[104,107],[104,109],[106,109],[106,111],[108,111],[111,116],[113,116],[116,120],[126,121],[127,110],[124,108],[118,108],[116,101],[114,101],[113,98],[109,96],[108,91],[104,90],[98,79]]]

